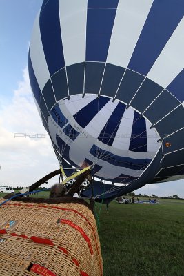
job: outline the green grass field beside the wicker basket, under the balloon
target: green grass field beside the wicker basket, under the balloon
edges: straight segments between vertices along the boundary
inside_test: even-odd
[[[105,205],[96,204],[97,213],[101,209],[104,276],[184,275],[184,201],[158,201],[157,205],[113,201],[108,213]]]

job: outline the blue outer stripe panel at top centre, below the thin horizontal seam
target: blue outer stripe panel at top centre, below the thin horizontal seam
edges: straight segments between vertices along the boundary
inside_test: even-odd
[[[106,61],[116,9],[88,9],[86,61]]]

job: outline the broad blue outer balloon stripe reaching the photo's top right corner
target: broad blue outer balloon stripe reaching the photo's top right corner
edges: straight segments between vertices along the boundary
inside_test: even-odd
[[[181,21],[183,11],[183,0],[154,0],[128,68],[147,75]]]

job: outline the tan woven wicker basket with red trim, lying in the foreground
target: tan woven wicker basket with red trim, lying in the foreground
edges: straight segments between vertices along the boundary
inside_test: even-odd
[[[0,206],[0,275],[103,275],[91,210],[76,203]]]

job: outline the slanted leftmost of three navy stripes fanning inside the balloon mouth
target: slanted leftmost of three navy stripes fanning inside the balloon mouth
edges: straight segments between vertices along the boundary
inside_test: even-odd
[[[79,110],[75,115],[74,119],[76,122],[85,128],[94,116],[110,101],[107,97],[99,97],[88,103],[84,108]]]

